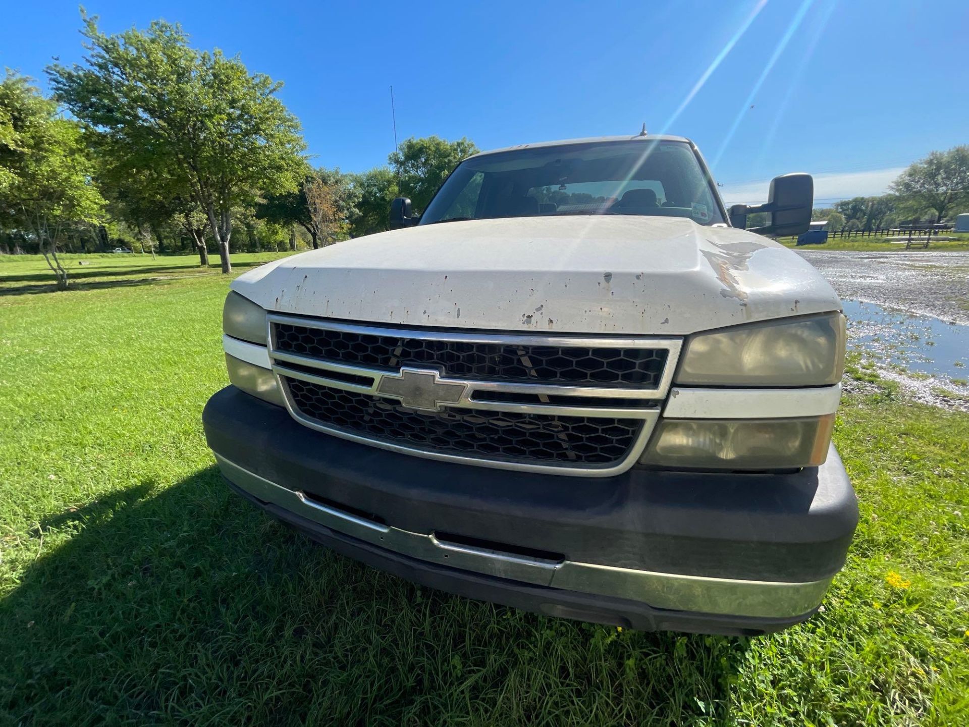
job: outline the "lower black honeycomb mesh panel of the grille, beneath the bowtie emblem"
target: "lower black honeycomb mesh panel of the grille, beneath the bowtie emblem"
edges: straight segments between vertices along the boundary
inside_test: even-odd
[[[640,432],[637,419],[566,417],[478,409],[425,413],[379,396],[284,377],[305,417],[423,451],[483,459],[609,464],[622,460]]]

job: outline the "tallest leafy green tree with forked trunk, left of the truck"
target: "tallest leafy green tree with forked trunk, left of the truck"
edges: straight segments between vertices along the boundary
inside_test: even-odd
[[[106,35],[97,17],[82,20],[85,65],[48,69],[56,97],[119,167],[182,177],[230,272],[233,210],[253,205],[258,190],[294,189],[304,165],[299,122],[276,97],[281,83],[217,48],[189,47],[177,24]]]

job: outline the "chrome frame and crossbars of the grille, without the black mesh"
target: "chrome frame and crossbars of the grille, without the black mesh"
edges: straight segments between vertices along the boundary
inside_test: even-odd
[[[333,361],[325,361],[312,356],[281,351],[277,347],[276,326],[298,326],[309,329],[332,332],[348,332],[358,335],[375,335],[396,338],[418,339],[425,341],[445,341],[455,343],[484,344],[488,346],[516,346],[516,347],[560,347],[569,349],[589,348],[596,350],[646,349],[663,352],[665,365],[656,377],[652,386],[626,385],[609,386],[593,384],[577,386],[564,383],[526,383],[520,380],[495,381],[487,378],[453,377],[444,374],[445,367],[432,363],[422,364],[420,368],[413,364],[400,365],[396,369],[383,365],[358,365]],[[559,475],[582,477],[607,477],[619,474],[633,465],[640,457],[650,433],[655,427],[660,414],[660,402],[670,391],[672,373],[679,357],[682,340],[680,338],[653,338],[629,336],[593,336],[593,335],[535,335],[499,332],[462,332],[462,331],[432,331],[422,329],[395,329],[381,326],[345,323],[327,319],[302,318],[290,315],[270,313],[268,316],[269,360],[272,370],[277,377],[278,384],[286,399],[286,407],[290,415],[300,424],[326,432],[355,442],[368,444],[393,452],[422,458],[441,459],[446,461],[474,464],[485,467],[497,467],[519,471],[547,472]],[[619,358],[619,357],[617,357]],[[629,357],[635,358],[635,357]],[[643,357],[647,359],[648,357]],[[527,363],[526,363],[527,365]],[[496,457],[486,457],[479,452],[468,452],[468,447],[454,448],[453,452],[444,451],[441,447],[427,448],[419,443],[402,443],[390,441],[386,438],[374,436],[372,431],[355,430],[349,427],[335,427],[326,422],[309,416],[297,405],[297,400],[290,391],[288,379],[296,379],[329,389],[359,395],[368,395],[375,401],[386,398],[386,404],[391,408],[404,408],[417,413],[426,414],[431,411],[427,403],[421,400],[418,405],[403,407],[404,399],[397,389],[388,385],[390,380],[400,380],[401,377],[423,374],[428,377],[433,373],[435,384],[441,385],[442,391],[447,391],[445,400],[436,401],[438,412],[452,411],[456,415],[473,416],[477,411],[480,415],[485,412],[507,412],[542,417],[557,417],[562,421],[606,419],[606,420],[636,420],[641,422],[641,428],[632,437],[631,446],[625,455],[608,462],[583,462],[562,460],[541,460],[530,458],[510,458],[500,454]],[[385,380],[389,380],[385,383]],[[541,379],[536,379],[541,381]],[[383,387],[382,387],[383,385]],[[454,393],[457,394],[454,394]],[[476,394],[490,395],[491,398],[476,398]],[[406,394],[404,394],[406,395]],[[501,397],[499,397],[499,395]],[[508,400],[514,395],[521,395],[522,400]],[[570,397],[577,397],[576,402],[569,401]],[[602,406],[596,400],[602,400]],[[623,399],[629,405],[617,406],[616,399]],[[538,402],[536,402],[536,400]],[[551,403],[551,401],[556,403]],[[385,410],[388,407],[383,407]],[[609,426],[603,422],[603,427]]]

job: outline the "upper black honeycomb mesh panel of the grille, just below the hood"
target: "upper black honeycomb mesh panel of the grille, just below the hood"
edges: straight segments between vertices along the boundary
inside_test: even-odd
[[[518,346],[326,331],[276,323],[279,351],[387,370],[435,366],[445,376],[656,389],[666,349]]]

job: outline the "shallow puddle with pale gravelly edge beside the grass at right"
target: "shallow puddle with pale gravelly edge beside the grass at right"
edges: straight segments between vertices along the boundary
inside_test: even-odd
[[[925,403],[969,410],[969,326],[843,300],[848,348]]]

